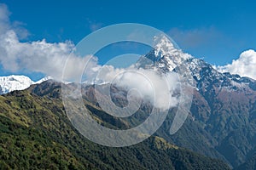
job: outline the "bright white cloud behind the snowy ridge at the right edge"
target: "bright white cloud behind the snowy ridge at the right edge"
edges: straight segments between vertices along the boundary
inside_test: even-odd
[[[239,59],[234,59],[231,64],[218,66],[217,69],[221,72],[230,72],[256,80],[256,52],[253,49],[244,51],[240,54]]]

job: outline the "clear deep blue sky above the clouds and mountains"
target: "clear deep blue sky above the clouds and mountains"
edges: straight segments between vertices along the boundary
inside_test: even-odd
[[[1,3],[8,6],[10,20],[21,22],[29,32],[21,42],[45,38],[47,42],[70,40],[76,44],[102,26],[131,22],[165,31],[183,51],[213,65],[226,65],[243,51],[256,49],[255,1],[2,0]],[[1,67],[0,70],[2,75],[9,73]]]

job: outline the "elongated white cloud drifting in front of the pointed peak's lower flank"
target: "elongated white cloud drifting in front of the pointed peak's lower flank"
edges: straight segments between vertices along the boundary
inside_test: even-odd
[[[101,67],[101,68],[99,68]],[[133,66],[116,69],[112,65],[98,66],[95,83],[113,83],[127,91],[135,89],[138,98],[148,99],[155,107],[168,109],[177,105],[177,97],[172,94],[178,88],[176,73],[160,74],[154,70],[137,69]]]

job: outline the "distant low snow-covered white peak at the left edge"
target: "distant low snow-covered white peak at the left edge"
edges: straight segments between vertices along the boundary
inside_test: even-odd
[[[0,77],[0,94],[8,94],[15,90],[24,90],[29,88],[32,84],[38,84],[51,77],[45,77],[38,82],[33,82],[29,77],[12,75],[9,77]]]

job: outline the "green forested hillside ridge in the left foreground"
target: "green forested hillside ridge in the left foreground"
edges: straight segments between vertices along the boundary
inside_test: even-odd
[[[0,96],[0,169],[230,169],[157,136],[123,148],[94,144],[67,119],[60,92],[60,84],[43,82]],[[99,122],[126,126],[101,114],[87,96]]]

